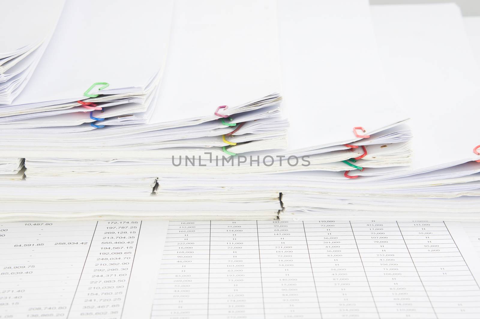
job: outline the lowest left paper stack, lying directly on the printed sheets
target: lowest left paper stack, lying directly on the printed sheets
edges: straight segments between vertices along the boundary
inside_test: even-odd
[[[7,194],[8,195],[8,194]],[[61,220],[272,220],[281,209],[279,194],[231,192],[204,196],[0,196],[0,221]],[[21,200],[21,205],[19,204]]]

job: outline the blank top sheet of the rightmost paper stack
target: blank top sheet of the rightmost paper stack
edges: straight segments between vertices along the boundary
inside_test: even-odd
[[[412,118],[412,170],[479,159],[479,67],[453,3],[372,6],[392,94]],[[434,154],[434,156],[432,156]]]

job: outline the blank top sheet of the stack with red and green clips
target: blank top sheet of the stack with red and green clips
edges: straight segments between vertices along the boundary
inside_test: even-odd
[[[408,119],[385,86],[367,0],[278,1],[291,149],[360,140]]]

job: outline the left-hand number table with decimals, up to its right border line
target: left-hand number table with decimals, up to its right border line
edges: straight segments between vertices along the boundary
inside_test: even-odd
[[[141,221],[0,223],[0,319],[119,319]]]

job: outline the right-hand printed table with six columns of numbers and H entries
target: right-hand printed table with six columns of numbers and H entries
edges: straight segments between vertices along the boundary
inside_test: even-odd
[[[480,318],[444,222],[170,222],[152,318]]]

